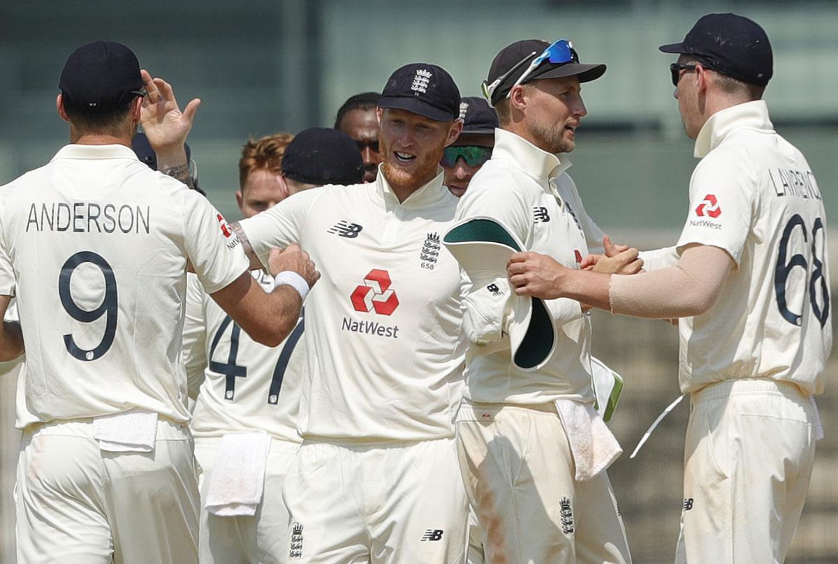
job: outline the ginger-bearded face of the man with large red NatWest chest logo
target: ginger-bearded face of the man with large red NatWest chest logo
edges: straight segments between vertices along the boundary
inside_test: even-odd
[[[453,122],[435,122],[412,111],[379,108],[381,156],[393,188],[416,190],[437,175]]]

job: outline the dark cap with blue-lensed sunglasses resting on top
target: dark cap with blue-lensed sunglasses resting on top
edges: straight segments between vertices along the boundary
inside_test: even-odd
[[[494,106],[513,87],[531,80],[577,76],[579,82],[589,82],[604,73],[605,65],[582,65],[579,54],[567,39],[551,44],[541,39],[524,39],[494,55],[489,77],[484,82],[484,96]]]

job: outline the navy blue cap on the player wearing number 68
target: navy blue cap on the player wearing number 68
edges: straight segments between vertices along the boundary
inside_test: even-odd
[[[747,84],[767,85],[773,75],[773,53],[765,30],[735,13],[701,16],[683,41],[659,49],[689,54],[701,65]]]

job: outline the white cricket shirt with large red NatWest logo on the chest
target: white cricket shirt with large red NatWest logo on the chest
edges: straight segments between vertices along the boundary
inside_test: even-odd
[[[322,277],[306,300],[303,437],[452,437],[461,397],[460,275],[440,243],[457,198],[436,178],[401,204],[375,183],[293,194],[241,227],[262,262],[297,242]]]

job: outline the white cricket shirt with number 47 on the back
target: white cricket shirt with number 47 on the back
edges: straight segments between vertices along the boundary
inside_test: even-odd
[[[265,292],[273,277],[251,272]],[[302,442],[297,407],[304,353],[303,319],[278,347],[256,343],[189,275],[184,322],[184,365],[190,387],[203,380],[189,427],[195,437],[264,429]]]

